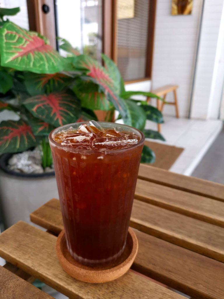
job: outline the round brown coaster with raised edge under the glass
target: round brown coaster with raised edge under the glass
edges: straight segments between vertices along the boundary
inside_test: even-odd
[[[123,254],[115,263],[107,264],[106,267],[89,267],[74,260],[67,249],[64,230],[61,231],[56,242],[56,254],[65,272],[78,280],[90,283],[111,281],[125,274],[134,262],[137,251],[138,240],[130,227]]]

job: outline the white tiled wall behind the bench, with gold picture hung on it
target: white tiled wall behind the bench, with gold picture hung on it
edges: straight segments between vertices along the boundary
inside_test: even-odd
[[[180,116],[187,117],[198,39],[202,0],[194,0],[192,14],[172,16],[171,0],[158,0],[155,26],[152,88],[178,84]],[[167,97],[172,100],[172,94]],[[175,115],[165,105],[165,115]]]

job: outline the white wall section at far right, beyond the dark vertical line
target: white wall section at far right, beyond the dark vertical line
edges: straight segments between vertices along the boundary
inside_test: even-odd
[[[223,0],[205,0],[191,118],[218,118],[224,78]]]

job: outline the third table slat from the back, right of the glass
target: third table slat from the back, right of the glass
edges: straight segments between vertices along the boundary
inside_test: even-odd
[[[131,226],[147,234],[224,262],[224,229],[134,200]]]

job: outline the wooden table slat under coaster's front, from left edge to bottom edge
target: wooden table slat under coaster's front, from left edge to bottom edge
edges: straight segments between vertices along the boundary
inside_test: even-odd
[[[183,299],[181,295],[131,271],[110,283],[91,284],[75,280],[61,268],[55,244],[55,236],[20,221],[1,233],[0,255],[71,299]]]

